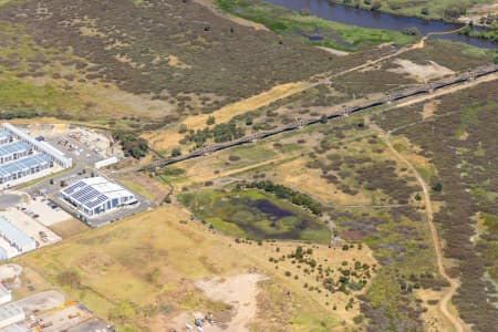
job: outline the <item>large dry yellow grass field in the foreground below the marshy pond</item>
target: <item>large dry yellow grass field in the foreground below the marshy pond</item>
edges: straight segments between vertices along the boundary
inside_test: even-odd
[[[325,297],[323,291],[303,288],[303,283],[320,288],[314,273],[303,273],[290,261],[279,262],[280,268],[276,269],[277,262],[269,261],[278,252],[291,253],[297,246],[295,242],[236,243],[232,238],[190,221],[180,207],[168,206],[74,236],[15,262],[40,276],[38,279],[42,279],[37,281],[40,287],[60,288],[70,299],[81,301],[122,331],[153,331],[158,320],[170,321],[194,310],[226,317],[227,304],[210,300],[196,290],[194,282],[247,271],[269,278],[259,287],[258,308],[264,310],[251,319],[256,329],[270,326],[272,330],[280,325],[291,331],[336,331],[341,324],[354,325],[352,318],[359,313],[357,302],[345,309],[350,297],[344,293]],[[335,270],[342,261],[351,266],[354,261],[375,263],[365,247],[349,251],[326,246],[310,248],[313,248],[311,256],[304,249],[308,257],[324,268]],[[283,273],[287,270],[299,279],[287,277]],[[289,297],[287,292],[291,298],[281,302],[282,294]]]

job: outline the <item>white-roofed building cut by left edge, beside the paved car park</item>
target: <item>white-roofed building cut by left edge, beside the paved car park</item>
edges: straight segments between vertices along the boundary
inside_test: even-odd
[[[37,241],[3,216],[0,216],[0,238],[10,246],[10,250],[4,250],[7,259],[37,249]]]

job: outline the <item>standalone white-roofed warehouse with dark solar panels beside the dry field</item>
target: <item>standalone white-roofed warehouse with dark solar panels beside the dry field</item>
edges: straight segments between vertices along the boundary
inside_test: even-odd
[[[77,208],[84,218],[137,203],[135,195],[104,177],[81,179],[61,190],[62,197]]]

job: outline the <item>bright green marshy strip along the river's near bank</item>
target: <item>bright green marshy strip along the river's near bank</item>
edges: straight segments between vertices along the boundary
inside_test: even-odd
[[[313,45],[354,51],[362,45],[385,42],[401,45],[414,41],[413,37],[401,32],[334,23],[260,0],[216,0],[216,3],[231,14],[261,23],[279,34],[292,37]]]

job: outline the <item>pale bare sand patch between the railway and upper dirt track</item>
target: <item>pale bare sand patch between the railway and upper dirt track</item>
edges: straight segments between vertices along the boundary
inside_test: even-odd
[[[427,64],[418,64],[409,60],[396,59],[394,63],[397,64],[398,68],[390,69],[390,72],[408,74],[419,82],[425,82],[455,73],[450,69],[434,61],[428,61]]]

